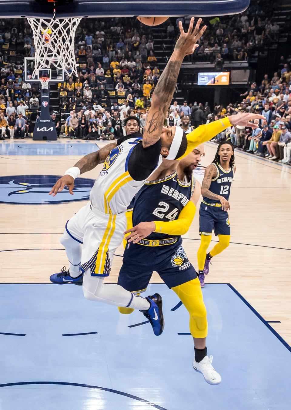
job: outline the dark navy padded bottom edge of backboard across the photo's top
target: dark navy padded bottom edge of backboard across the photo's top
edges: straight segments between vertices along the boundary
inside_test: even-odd
[[[247,9],[250,0],[0,0],[1,18],[223,16]]]

